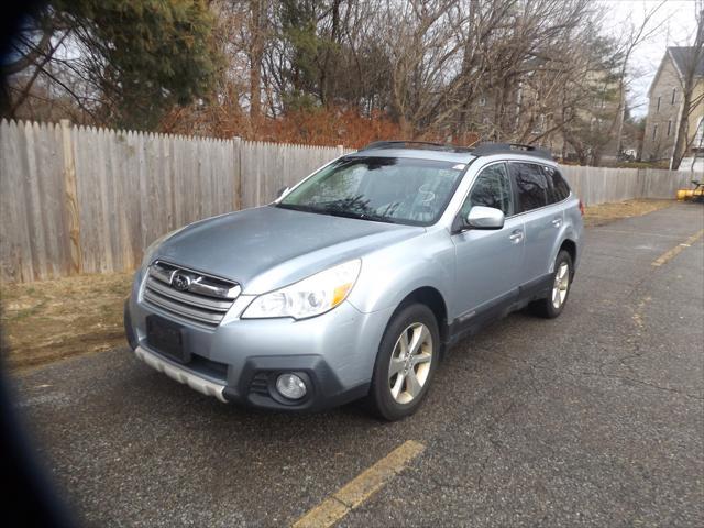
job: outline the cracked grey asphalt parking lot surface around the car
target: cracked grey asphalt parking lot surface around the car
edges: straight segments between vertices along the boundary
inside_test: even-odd
[[[702,526],[703,229],[685,204],[590,228],[563,315],[462,341],[402,422],[226,406],[127,346],[19,376],[16,406],[94,526],[287,526],[407,441],[337,526]]]

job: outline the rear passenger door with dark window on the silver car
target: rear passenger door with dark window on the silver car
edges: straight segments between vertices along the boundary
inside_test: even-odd
[[[526,232],[520,284],[531,287],[544,280],[552,265],[552,250],[563,222],[562,207],[554,204],[552,183],[536,163],[510,162],[518,212]]]

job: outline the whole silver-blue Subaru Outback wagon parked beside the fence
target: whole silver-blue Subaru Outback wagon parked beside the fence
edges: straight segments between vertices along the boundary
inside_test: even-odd
[[[150,366],[221,402],[415,413],[443,353],[564,309],[582,204],[546,151],[377,142],[268,206],[154,242],[125,305]]]

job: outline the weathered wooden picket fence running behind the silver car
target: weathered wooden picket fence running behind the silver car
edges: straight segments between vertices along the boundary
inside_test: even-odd
[[[351,152],[0,122],[0,280],[133,270],[161,234],[255,207]],[[564,167],[587,204],[672,198],[690,175]]]

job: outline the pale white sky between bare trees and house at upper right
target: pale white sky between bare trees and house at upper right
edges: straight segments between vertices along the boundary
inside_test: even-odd
[[[603,0],[608,8],[605,31],[619,36],[629,24],[639,26],[646,11],[656,8],[660,0]],[[651,26],[661,24],[648,41],[636,48],[630,69],[634,80],[630,85],[629,103],[635,116],[647,113],[648,88],[658,70],[668,46],[686,46],[693,42],[696,30],[694,0],[668,0],[650,21]],[[612,25],[609,21],[613,21]]]

